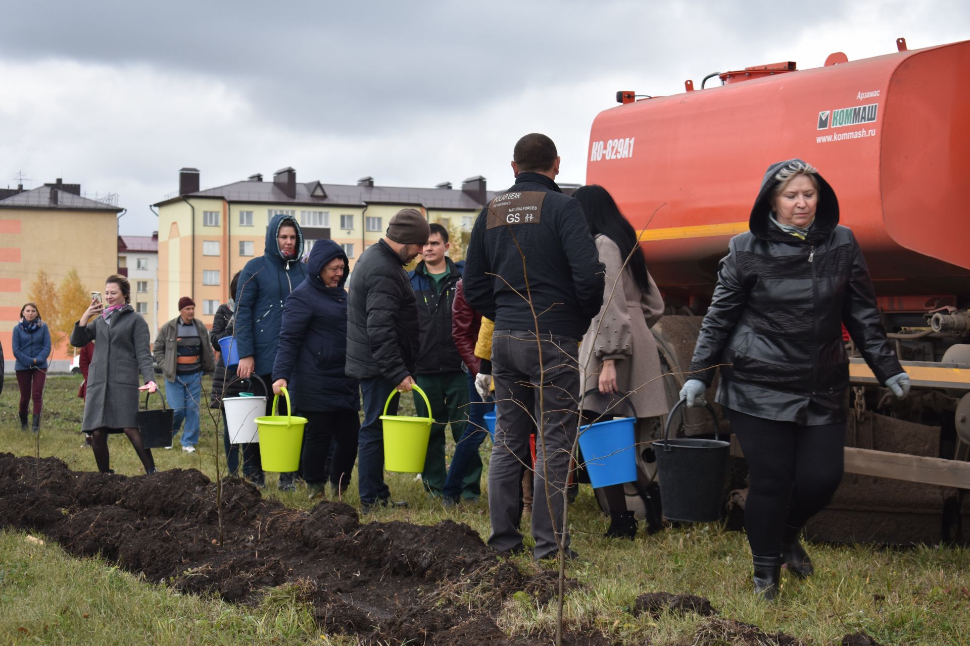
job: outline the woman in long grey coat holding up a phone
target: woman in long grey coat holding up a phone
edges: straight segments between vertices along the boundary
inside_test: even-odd
[[[81,430],[91,434],[91,447],[98,471],[111,474],[108,435],[128,436],[148,474],[155,473],[151,451],[142,443],[138,430],[139,390],[157,388],[151,365],[148,323],[129,304],[131,284],[124,276],[113,274],[105,285],[105,302],[98,297],[75,323],[71,345],[82,348],[97,342],[98,352],[88,368],[87,398]],[[139,387],[142,374],[145,385]]]

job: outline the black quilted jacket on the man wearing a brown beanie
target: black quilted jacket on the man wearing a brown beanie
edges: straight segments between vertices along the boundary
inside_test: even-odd
[[[407,272],[383,238],[361,254],[348,287],[347,377],[400,384],[414,374],[421,330]]]

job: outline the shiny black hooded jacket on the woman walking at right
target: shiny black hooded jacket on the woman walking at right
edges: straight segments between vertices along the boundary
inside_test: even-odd
[[[839,226],[835,192],[822,175],[805,240],[769,219],[779,169],[768,168],[751,231],[730,240],[697,338],[691,377],[707,385],[719,363],[717,401],[767,419],[820,425],[846,418],[849,364],[842,323],[880,383],[903,372],[889,347],[869,271],[852,231]]]

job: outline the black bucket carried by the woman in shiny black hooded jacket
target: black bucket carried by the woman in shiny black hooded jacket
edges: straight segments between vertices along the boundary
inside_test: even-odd
[[[671,409],[663,427],[663,440],[653,444],[663,517],[688,523],[709,523],[721,517],[730,443],[718,439],[670,439],[670,423],[685,401],[680,400]],[[718,438],[717,415],[710,404],[707,411],[714,419],[714,437]]]

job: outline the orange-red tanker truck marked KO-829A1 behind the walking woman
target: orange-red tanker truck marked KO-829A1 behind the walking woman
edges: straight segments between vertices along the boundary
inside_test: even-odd
[[[898,39],[896,48],[857,61],[832,53],[813,69],[717,73],[673,96],[618,92],[621,105],[600,112],[590,135],[586,181],[606,187],[640,232],[663,291],[668,316],[655,335],[671,373],[690,362],[718,261],[748,231],[764,169],[798,157],[834,188],[915,387],[897,403],[851,359],[847,476],[809,527],[817,538],[970,534],[961,537],[970,528],[970,83],[958,74],[970,70],[970,41],[910,50]],[[683,379],[667,377],[671,398]],[[687,421],[689,433],[709,430]]]

